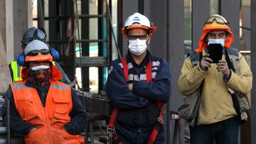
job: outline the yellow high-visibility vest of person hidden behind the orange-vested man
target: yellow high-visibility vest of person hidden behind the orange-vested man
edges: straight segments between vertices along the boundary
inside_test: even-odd
[[[53,61],[53,65],[55,65],[55,61]],[[17,61],[13,61],[11,62],[11,70],[13,72],[13,82],[17,82],[20,81],[21,78],[21,70],[22,70],[22,66],[18,65]]]

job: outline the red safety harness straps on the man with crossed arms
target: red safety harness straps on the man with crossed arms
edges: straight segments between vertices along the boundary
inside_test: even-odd
[[[126,57],[122,58],[122,65],[123,65],[123,71],[124,71],[124,79],[125,82],[128,81],[128,66],[127,66],[127,59]],[[146,65],[146,81],[151,82],[152,81],[152,74],[151,74],[151,67],[152,67],[152,62],[149,60],[148,64]],[[159,117],[156,123],[156,126],[154,127],[148,144],[153,144],[154,141],[156,140],[156,136],[159,133],[159,129],[161,126],[164,124],[164,113],[166,111],[166,105],[157,101],[156,106],[159,108]],[[119,140],[119,135],[116,133],[115,128],[114,128],[114,122],[116,121],[117,118],[117,113],[118,109],[114,108],[112,111],[112,115],[110,117],[110,122],[107,126],[107,133],[109,133],[109,142],[110,144],[112,143],[112,138],[118,143],[122,144],[122,141]]]

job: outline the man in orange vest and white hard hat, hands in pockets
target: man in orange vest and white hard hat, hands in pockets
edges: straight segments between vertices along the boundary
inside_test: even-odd
[[[84,143],[80,133],[87,124],[85,107],[52,64],[48,46],[33,40],[24,50],[26,65],[21,81],[10,84],[11,131],[25,135],[26,143]]]

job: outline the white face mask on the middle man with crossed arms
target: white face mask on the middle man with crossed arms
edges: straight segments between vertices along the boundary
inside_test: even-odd
[[[142,55],[142,53],[146,50],[146,40],[129,40],[129,51],[134,55]]]

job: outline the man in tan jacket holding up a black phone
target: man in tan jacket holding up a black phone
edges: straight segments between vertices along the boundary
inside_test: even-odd
[[[252,72],[240,52],[230,48],[232,42],[233,33],[225,18],[210,16],[203,27],[199,48],[183,63],[179,92],[190,96],[201,87],[197,120],[189,128],[192,144],[210,144],[214,140],[217,144],[238,143],[241,118],[232,96],[233,92],[241,96],[250,93]],[[221,53],[217,52],[219,49]]]

